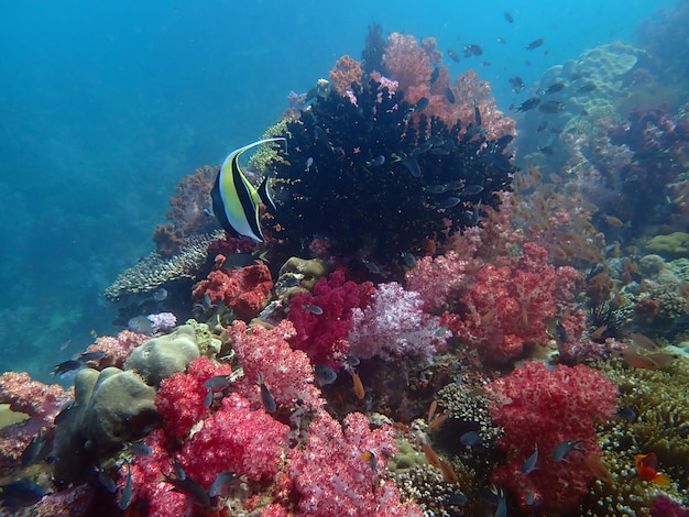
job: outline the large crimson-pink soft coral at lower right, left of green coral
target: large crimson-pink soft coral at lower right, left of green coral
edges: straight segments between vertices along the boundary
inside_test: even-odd
[[[510,488],[525,509],[533,494],[547,514],[571,510],[593,479],[586,462],[600,460],[593,422],[614,417],[615,385],[581,364],[549,372],[542,363],[526,363],[485,386],[485,393],[493,420],[505,430],[497,446],[508,458],[506,465],[495,469],[493,481]],[[566,441],[578,443],[566,461],[557,462],[553,452]],[[536,470],[524,474],[522,465],[536,446]]]

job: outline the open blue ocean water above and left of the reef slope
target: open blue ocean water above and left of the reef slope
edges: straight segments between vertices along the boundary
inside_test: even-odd
[[[507,110],[549,67],[634,43],[641,20],[676,3],[2,2],[0,371],[46,381],[91,329],[121,330],[102,292],[153,250],[176,184],[260,138],[341,55],[359,58],[370,23],[442,52],[480,44],[482,56],[445,62],[479,72]],[[520,96],[512,76],[528,85]]]

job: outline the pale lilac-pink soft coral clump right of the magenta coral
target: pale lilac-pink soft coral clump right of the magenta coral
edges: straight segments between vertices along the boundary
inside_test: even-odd
[[[395,282],[380,284],[365,309],[356,308],[349,351],[361,358],[433,355],[446,348],[451,334],[440,332],[440,318],[422,310],[418,293]]]

